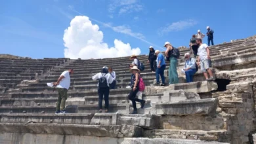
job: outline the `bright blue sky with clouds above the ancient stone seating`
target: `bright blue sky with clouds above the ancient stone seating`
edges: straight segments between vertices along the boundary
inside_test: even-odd
[[[84,59],[148,54],[150,45],[163,50],[165,41],[188,46],[192,34],[198,29],[205,33],[206,26],[215,31],[214,42],[219,44],[256,34],[255,6],[255,0],[6,0],[0,5],[0,53]],[[74,18],[77,23],[64,41],[64,30]],[[86,28],[81,25],[90,21]]]

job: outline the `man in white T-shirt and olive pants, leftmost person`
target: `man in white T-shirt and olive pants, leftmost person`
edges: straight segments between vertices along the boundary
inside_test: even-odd
[[[56,105],[56,114],[66,113],[65,103],[68,99],[68,88],[70,88],[70,75],[74,73],[73,69],[68,69],[68,71],[63,71],[63,73],[58,78],[57,82],[54,82],[53,85],[56,86],[58,90],[58,102]]]

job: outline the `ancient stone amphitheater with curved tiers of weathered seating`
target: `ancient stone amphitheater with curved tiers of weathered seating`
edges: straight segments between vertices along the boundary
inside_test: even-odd
[[[144,109],[138,115],[127,100],[131,74],[129,57],[100,60],[68,58],[0,58],[0,143],[256,143],[256,37],[210,47],[215,82],[198,70],[194,81],[153,86],[147,56]],[[181,50],[184,55],[188,50]],[[110,90],[110,113],[98,111],[93,73],[103,65],[114,67],[117,86]],[[178,67],[184,66],[183,58]],[[67,114],[54,114],[58,94],[47,82],[72,68]],[[178,70],[179,71],[179,70]],[[167,71],[165,71],[167,77]],[[168,81],[168,80],[167,80]],[[139,103],[137,107],[140,107]]]

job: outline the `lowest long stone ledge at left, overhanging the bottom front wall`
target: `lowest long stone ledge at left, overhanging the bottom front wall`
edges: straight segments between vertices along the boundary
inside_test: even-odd
[[[33,134],[65,134],[97,137],[141,137],[143,129],[127,125],[84,125],[84,124],[49,124],[49,123],[0,123],[0,132]]]

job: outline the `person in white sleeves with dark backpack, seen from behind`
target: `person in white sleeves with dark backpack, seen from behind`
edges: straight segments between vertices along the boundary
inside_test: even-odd
[[[110,94],[110,84],[113,82],[113,78],[108,73],[108,67],[102,67],[101,73],[97,73],[93,76],[93,81],[98,80],[98,113],[102,113],[102,100],[104,96],[105,100],[105,112],[108,113],[109,102],[108,96]]]

